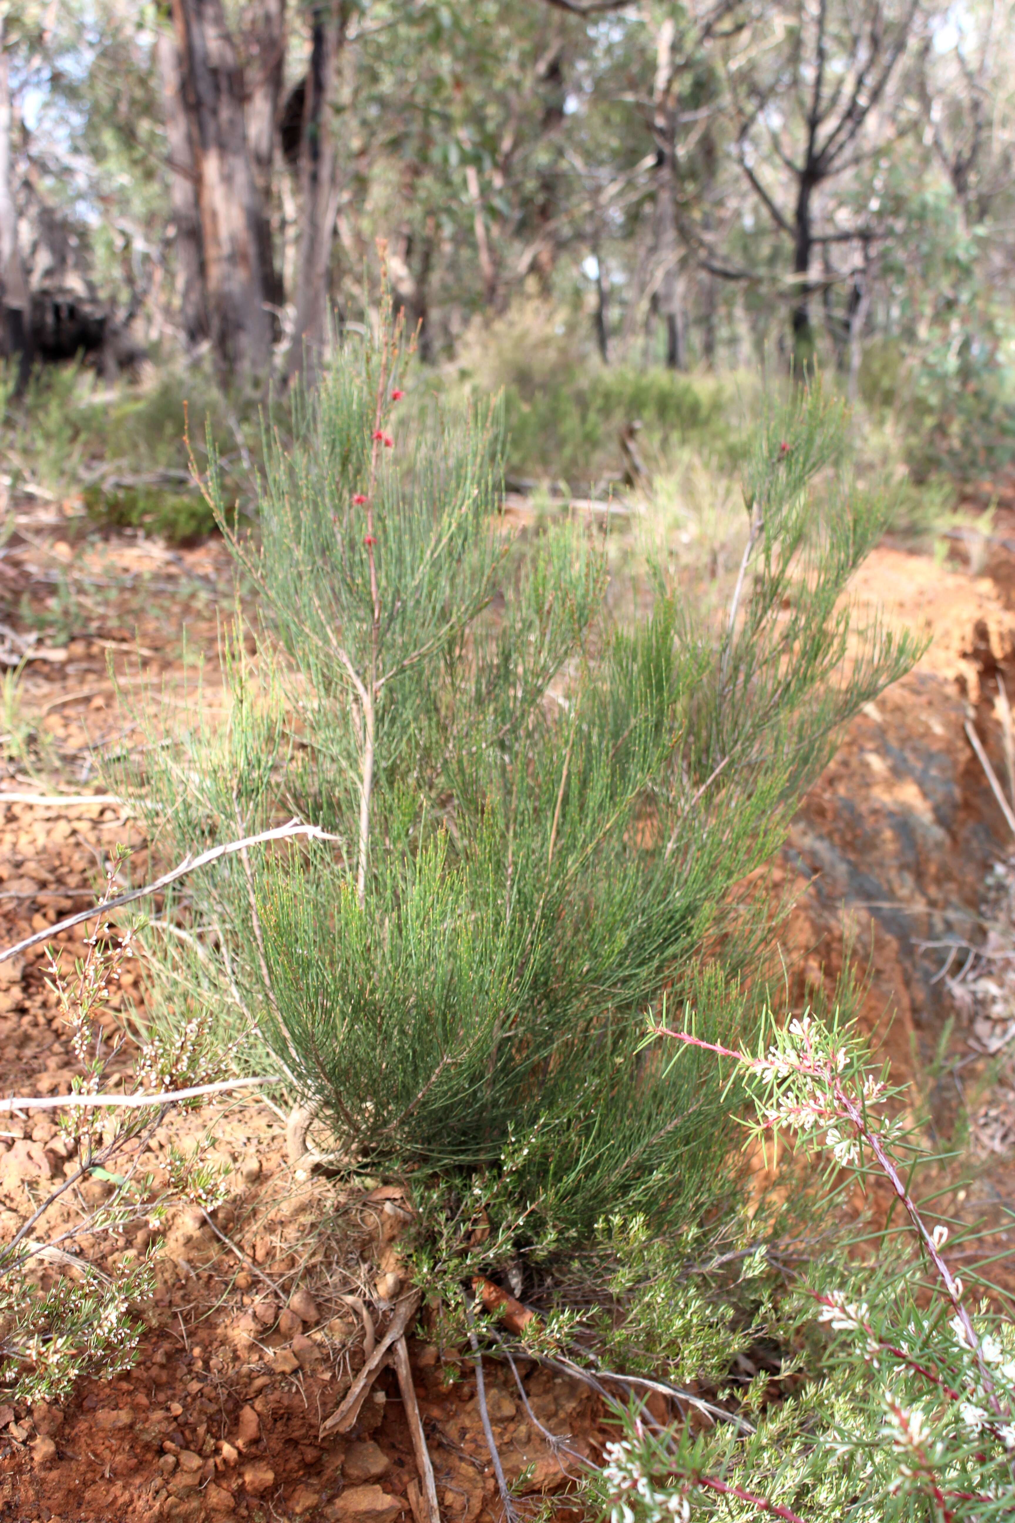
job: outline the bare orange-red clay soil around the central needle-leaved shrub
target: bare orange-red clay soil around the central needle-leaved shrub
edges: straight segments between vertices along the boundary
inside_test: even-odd
[[[32,538],[43,550],[15,541],[5,565],[29,585],[37,609],[52,595],[55,568],[65,585],[70,579],[79,627],[62,647],[65,656],[27,667],[23,690],[49,737],[50,774],[61,790],[87,792],[90,748],[123,743],[110,658],[128,675],[140,663],[157,687],[164,684],[163,701],[178,702],[183,621],[192,656],[208,656],[212,685],[204,701],[215,702],[215,614],[228,599],[230,571],[215,542],[169,553],[114,536],[72,551],[61,535],[58,515],[49,525],[35,524]],[[846,926],[854,956],[870,972],[864,1020],[896,1075],[922,1086],[945,1023],[957,1016],[951,1042],[962,1057],[972,1052],[963,1069],[968,1094],[989,1065],[969,1048],[969,1020],[956,1010],[948,984],[934,981],[940,950],[925,943],[977,940],[985,876],[1010,845],[963,731],[972,714],[1001,768],[994,705],[998,669],[1010,673],[1015,696],[1009,591],[1015,556],[1003,547],[992,556],[991,574],[978,577],[890,547],[870,557],[857,579],[858,595],[887,605],[901,623],[927,621],[934,643],[918,670],[852,725],[776,868],[776,880],[796,900],[785,932],[796,1004],[817,982],[834,981]],[[9,763],[0,777],[5,790],[37,792],[40,783]],[[132,830],[117,806],[40,809],[0,800],[2,944],[87,903],[116,841],[137,847],[129,874],[140,882],[145,842]],[[68,955],[81,952],[79,938],[65,944]],[[0,964],[0,1084],[8,1094],[65,1092],[75,1072],[41,963],[35,949],[15,964]],[[128,981],[120,1004],[128,1001],[143,1010],[138,984]],[[120,1020],[122,1011],[111,1010],[110,1030]],[[989,1077],[997,1086],[995,1069],[997,1062]],[[931,1097],[943,1129],[954,1124],[957,1094],[950,1086]],[[148,1330],[128,1375],[82,1381],[62,1409],[0,1407],[3,1523],[198,1523],[230,1515],[408,1523],[412,1517],[417,1473],[394,1371],[382,1372],[350,1435],[320,1439],[321,1421],[364,1362],[362,1317],[342,1298],[359,1296],[383,1330],[388,1311],[377,1275],[393,1272],[385,1244],[405,1203],[371,1200],[370,1182],[341,1196],[327,1179],[291,1165],[283,1121],[259,1101],[237,1100],[173,1119],[173,1138],[205,1129],[230,1171],[228,1200],[215,1214],[221,1237],[193,1211],[167,1223],[158,1292],[143,1308]],[[6,1240],[62,1176],[65,1159],[47,1121],[14,1118],[0,1132],[6,1133],[0,1240]],[[169,1141],[161,1132],[151,1142],[145,1167],[157,1177]],[[62,1220],[87,1214],[102,1188],[91,1182],[90,1197],[67,1199]],[[991,1173],[978,1171],[965,1203],[969,1211],[1015,1203],[1006,1154],[992,1157]],[[143,1252],[151,1238],[151,1229],[140,1226],[131,1237],[85,1241],[76,1250],[114,1267]],[[391,1282],[380,1288],[394,1293]],[[409,1354],[441,1514],[493,1523],[499,1506],[470,1366],[441,1366],[426,1342],[411,1342]],[[603,1438],[597,1412],[580,1384],[534,1365],[520,1374],[531,1413],[510,1371],[487,1368],[505,1470],[517,1477],[533,1467],[525,1482],[533,1494],[563,1491],[568,1477],[531,1416],[595,1456]]]

